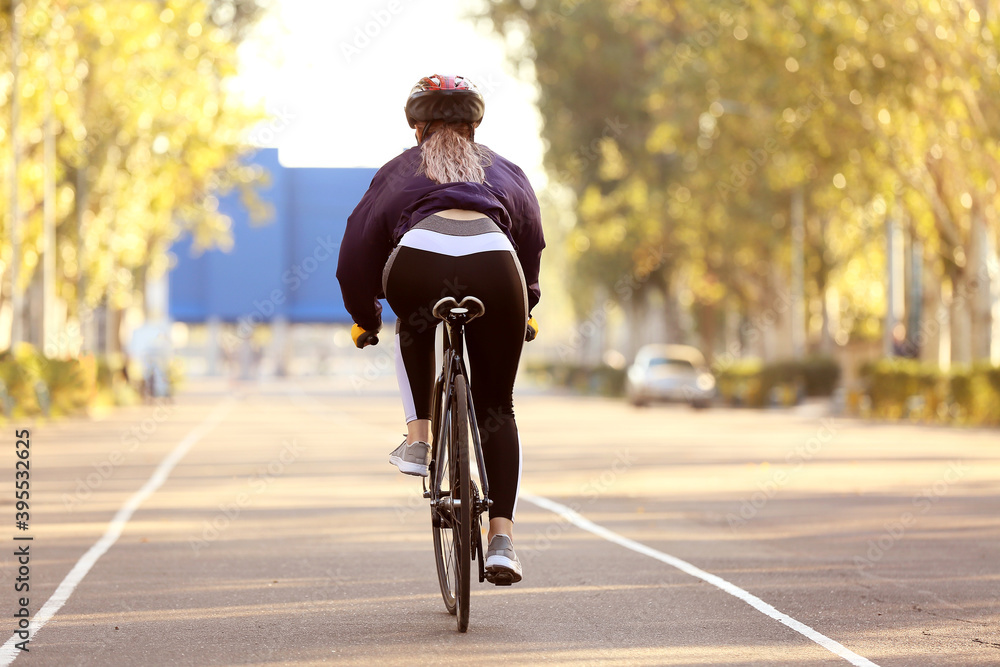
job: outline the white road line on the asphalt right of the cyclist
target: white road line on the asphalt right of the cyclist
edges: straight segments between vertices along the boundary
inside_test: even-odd
[[[650,558],[655,558],[656,560],[666,563],[667,565],[672,565],[676,567],[678,570],[690,574],[692,577],[697,577],[698,579],[701,579],[706,583],[712,584],[716,588],[722,589],[723,591],[729,593],[733,597],[737,597],[743,600],[748,605],[750,605],[757,611],[761,612],[762,614],[770,616],[779,623],[787,625],[789,628],[795,630],[796,632],[806,637],[807,639],[816,642],[817,644],[827,649],[831,653],[839,655],[841,658],[847,660],[852,665],[857,665],[857,667],[878,667],[878,665],[876,665],[871,660],[861,657],[854,651],[845,648],[842,644],[835,642],[826,635],[816,632],[805,623],[796,621],[788,614],[781,613],[768,603],[761,600],[756,595],[752,595],[746,592],[736,584],[731,584],[722,577],[718,577],[714,574],[705,572],[704,570],[697,568],[691,563],[681,560],[676,556],[665,554],[662,551],[657,551],[656,549],[653,549],[652,547],[647,547],[645,544],[642,544],[641,542],[636,542],[635,540],[630,540],[627,537],[623,537],[618,533],[608,530],[604,526],[600,526],[594,523],[590,519],[585,519],[583,516],[581,516],[574,510],[570,509],[569,507],[566,507],[565,505],[562,505],[555,501],[549,500],[548,498],[543,498],[542,496],[535,496],[527,493],[522,494],[521,497],[524,500],[527,500],[530,503],[534,503],[535,505],[538,505],[543,509],[547,509],[550,512],[555,512],[556,514],[564,518],[566,521],[569,521],[578,528],[582,528],[583,530],[593,533],[594,535],[603,537],[604,539],[610,542],[614,542],[615,544],[618,544],[620,546],[623,546],[626,549],[631,549],[632,551],[641,553],[645,556],[649,556]]]

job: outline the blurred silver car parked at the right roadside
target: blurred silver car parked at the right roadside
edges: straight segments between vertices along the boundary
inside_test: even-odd
[[[628,369],[625,394],[637,407],[652,401],[679,401],[707,408],[715,396],[715,376],[696,348],[644,345]]]

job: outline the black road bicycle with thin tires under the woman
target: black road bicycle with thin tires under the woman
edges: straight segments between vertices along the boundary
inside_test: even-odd
[[[486,307],[474,296],[465,297],[461,303],[445,297],[434,305],[432,312],[445,327],[441,374],[433,394],[431,433],[434,437],[428,477],[424,479],[424,498],[430,499],[434,560],[441,597],[448,613],[456,616],[458,631],[465,632],[469,628],[474,561],[479,563],[479,581],[486,579],[481,517],[492,501],[462,350],[465,325],[486,312]],[[482,484],[481,494],[471,475],[470,443]]]

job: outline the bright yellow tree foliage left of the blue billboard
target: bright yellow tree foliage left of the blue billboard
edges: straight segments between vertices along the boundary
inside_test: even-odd
[[[147,277],[166,270],[166,251],[182,229],[202,246],[229,242],[216,197],[220,186],[259,178],[239,155],[261,114],[233,99],[226,79],[262,11],[254,0],[0,4],[0,34],[17,21],[21,36],[16,53],[5,40],[0,54],[0,136],[17,151],[21,210],[15,277],[15,221],[10,206],[2,209],[4,301],[40,282],[46,180],[55,193],[56,294],[78,322],[99,304],[120,310],[141,302]],[[20,64],[16,89],[12,58]],[[20,120],[12,128],[15,97]],[[47,131],[56,155],[48,170]],[[32,339],[60,353],[79,343],[51,332],[42,341],[37,327]]]

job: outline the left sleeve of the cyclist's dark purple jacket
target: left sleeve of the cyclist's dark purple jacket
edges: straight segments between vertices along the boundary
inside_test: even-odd
[[[340,244],[337,281],[344,306],[351,318],[366,331],[382,328],[382,269],[392,252],[392,226],[382,205],[391,163],[375,174],[368,191],[347,218]]]

